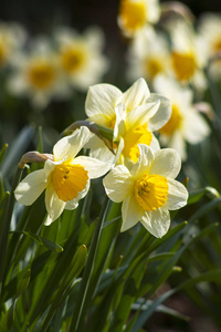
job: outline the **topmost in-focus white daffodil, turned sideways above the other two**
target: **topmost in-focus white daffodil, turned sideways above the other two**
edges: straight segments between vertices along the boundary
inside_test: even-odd
[[[91,86],[85,108],[90,121],[114,129],[114,149],[122,164],[137,162],[140,143],[159,148],[152,132],[164,126],[171,114],[170,102],[150,94],[144,79],[137,80],[125,93],[110,84]],[[101,139],[98,144],[98,138],[93,138],[90,147],[93,156],[117,162]]]

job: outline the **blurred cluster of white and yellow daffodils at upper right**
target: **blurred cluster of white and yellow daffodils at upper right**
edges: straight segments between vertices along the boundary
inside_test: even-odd
[[[212,112],[204,103],[207,75],[221,82],[221,15],[204,13],[197,20],[179,1],[122,0],[118,24],[128,39],[127,77],[131,82],[143,76],[170,98],[172,114],[159,139],[186,160],[187,143],[200,143],[210,134],[200,113]]]

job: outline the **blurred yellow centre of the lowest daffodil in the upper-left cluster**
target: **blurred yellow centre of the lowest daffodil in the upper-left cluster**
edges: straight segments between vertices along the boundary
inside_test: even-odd
[[[28,80],[36,89],[49,87],[55,77],[54,68],[49,61],[38,60],[28,69]]]

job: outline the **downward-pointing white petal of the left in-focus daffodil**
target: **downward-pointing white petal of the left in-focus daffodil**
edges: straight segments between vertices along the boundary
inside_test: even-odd
[[[52,184],[50,184],[46,187],[45,191],[45,206],[46,206],[46,211],[49,214],[49,217],[44,225],[50,225],[54,220],[56,220],[62,211],[64,210],[65,207],[65,201],[61,200],[56,193],[54,191],[54,188]]]

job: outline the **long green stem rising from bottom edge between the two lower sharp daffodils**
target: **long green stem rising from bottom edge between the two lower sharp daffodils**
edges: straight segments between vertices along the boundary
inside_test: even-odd
[[[72,323],[70,326],[70,331],[74,331],[74,332],[81,331],[81,323],[84,319],[84,312],[86,311],[85,299],[87,295],[90,280],[91,280],[93,269],[94,269],[94,263],[95,263],[96,252],[97,252],[97,248],[98,248],[98,243],[99,243],[99,239],[101,239],[101,235],[102,235],[102,229],[103,229],[104,220],[105,220],[106,212],[108,209],[108,203],[109,203],[109,199],[107,196],[105,196],[105,201],[103,204],[102,211],[101,211],[97,225],[96,225],[96,229],[95,229],[92,245],[90,248],[88,258],[87,258],[86,266],[84,269],[78,295],[76,299],[76,307],[75,307],[74,314],[72,318]]]

